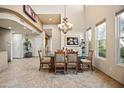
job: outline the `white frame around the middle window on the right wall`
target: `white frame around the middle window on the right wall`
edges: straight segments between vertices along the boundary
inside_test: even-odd
[[[106,38],[105,38],[105,41],[106,41],[106,57],[101,57],[101,56],[99,56],[99,48],[98,48],[98,33],[97,33],[97,31],[98,31],[98,27],[100,26],[100,25],[102,25],[102,24],[104,24],[105,23],[105,26],[106,26],[106,28],[105,28],[105,34],[106,34]],[[96,56],[96,58],[98,58],[98,59],[101,59],[101,60],[106,60],[107,59],[107,22],[106,22],[106,19],[104,19],[103,21],[101,21],[101,22],[99,22],[98,24],[96,24],[96,27],[95,27],[95,51],[96,51],[96,53],[95,53],[95,56]]]

